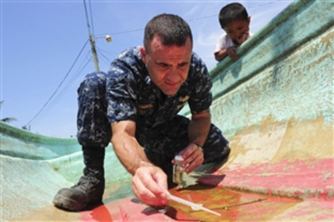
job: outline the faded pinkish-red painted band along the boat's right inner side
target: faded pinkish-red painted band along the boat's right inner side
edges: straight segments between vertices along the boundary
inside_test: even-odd
[[[259,190],[268,194],[293,197],[333,199],[334,160],[284,160],[279,163],[253,164],[246,168],[235,166],[216,172],[216,178],[200,180],[219,187]],[[223,174],[218,175],[218,174]]]

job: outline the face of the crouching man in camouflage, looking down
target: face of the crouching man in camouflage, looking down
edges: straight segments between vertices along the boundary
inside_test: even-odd
[[[177,93],[187,79],[192,53],[190,38],[183,46],[164,46],[155,36],[148,52],[141,48],[143,62],[153,83],[167,96]]]

